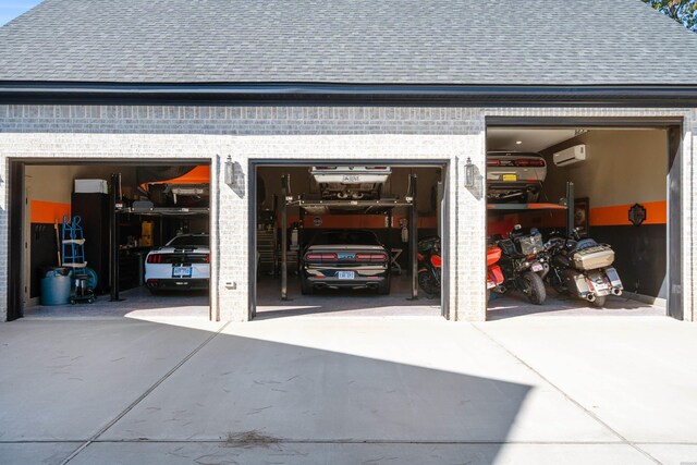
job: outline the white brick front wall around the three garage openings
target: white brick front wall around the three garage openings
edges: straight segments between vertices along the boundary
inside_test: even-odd
[[[211,241],[221,244],[211,270],[211,304],[221,319],[243,321],[249,308],[247,249],[249,160],[264,159],[445,159],[450,161],[451,319],[485,318],[484,180],[464,187],[467,157],[485,172],[485,118],[503,117],[685,117],[684,191],[692,192],[692,154],[697,110],[470,109],[363,107],[80,107],[0,106],[0,172],[8,157],[22,158],[200,158],[211,160],[212,185],[224,159],[243,168],[243,189],[220,183],[211,196]],[[7,262],[8,192],[0,189],[0,260]],[[687,196],[686,196],[687,197]],[[692,201],[685,201],[685,237],[692,237]],[[215,221],[218,218],[218,221]],[[686,244],[692,250],[694,245]],[[686,254],[687,255],[687,254]],[[692,254],[689,254],[692,256]],[[694,264],[686,257],[685,282]],[[7,267],[0,282],[7,283]],[[236,289],[225,287],[235,282]],[[692,285],[685,285],[692,319]],[[688,289],[689,287],[689,289]],[[0,319],[7,315],[7,284],[0,286]]]

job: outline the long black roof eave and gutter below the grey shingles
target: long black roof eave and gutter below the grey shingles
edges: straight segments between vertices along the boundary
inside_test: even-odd
[[[697,108],[695,85],[1,82],[0,103],[612,106]]]

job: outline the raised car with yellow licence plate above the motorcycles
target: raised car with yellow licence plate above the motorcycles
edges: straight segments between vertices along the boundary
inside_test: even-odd
[[[547,178],[541,155],[523,151],[487,154],[487,197],[489,201],[527,204],[539,199]]]

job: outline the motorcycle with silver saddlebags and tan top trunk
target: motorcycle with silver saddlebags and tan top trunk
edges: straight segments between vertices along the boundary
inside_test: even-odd
[[[624,289],[617,270],[611,267],[614,250],[608,244],[582,238],[579,231],[574,229],[568,237],[552,236],[545,244],[551,257],[547,281],[559,293],[602,307],[608,295],[622,295]]]

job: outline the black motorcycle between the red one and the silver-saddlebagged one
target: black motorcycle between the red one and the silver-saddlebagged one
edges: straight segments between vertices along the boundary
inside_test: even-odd
[[[535,305],[541,305],[547,298],[543,279],[550,270],[542,234],[531,228],[529,232],[523,232],[516,224],[509,233],[508,238],[500,235],[493,237],[496,245],[501,248],[499,266],[503,271],[503,282],[493,287],[500,294],[510,290],[524,293],[528,301]]]

